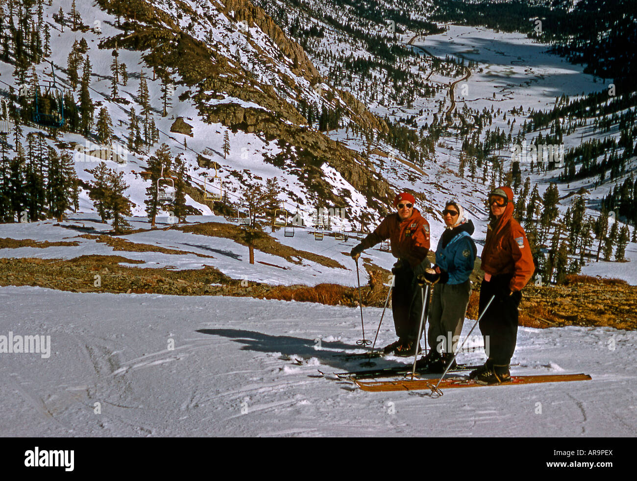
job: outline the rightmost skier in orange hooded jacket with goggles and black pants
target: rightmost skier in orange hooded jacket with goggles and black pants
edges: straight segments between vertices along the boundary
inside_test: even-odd
[[[480,286],[480,312],[491,296],[496,297],[480,319],[480,331],[488,336],[487,362],[471,371],[469,377],[480,384],[499,384],[511,378],[509,364],[517,340],[520,291],[533,276],[535,266],[526,233],[513,219],[513,190],[493,190],[489,206],[494,219],[487,227],[482,249],[480,267],[485,274]]]

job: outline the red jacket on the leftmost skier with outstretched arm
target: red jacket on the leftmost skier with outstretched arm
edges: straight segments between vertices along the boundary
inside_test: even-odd
[[[361,242],[363,248],[374,247],[380,241],[390,240],[392,255],[408,261],[412,269],[429,252],[429,222],[414,208],[409,219],[401,220],[397,213],[385,217],[373,233]]]

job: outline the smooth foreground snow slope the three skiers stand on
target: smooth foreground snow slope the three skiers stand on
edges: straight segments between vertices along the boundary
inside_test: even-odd
[[[39,287],[1,287],[0,298],[0,335],[51,336],[47,359],[0,354],[4,436],[637,434],[634,331],[520,327],[513,375],[584,372],[592,380],[454,389],[432,399],[316,377],[317,369],[359,368],[332,355],[360,350],[355,308]],[[364,308],[369,332],[380,312]],[[385,319],[378,343],[393,340]],[[461,362],[483,359],[459,354]],[[411,361],[378,366],[401,362]]]

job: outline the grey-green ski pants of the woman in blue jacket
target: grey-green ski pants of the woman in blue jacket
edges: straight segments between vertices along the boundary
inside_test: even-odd
[[[462,284],[434,285],[431,308],[429,308],[429,331],[427,331],[427,341],[432,350],[440,353],[454,352],[454,342],[459,341],[462,333],[469,296],[471,296],[469,280]],[[460,345],[457,345],[455,348],[459,347]]]

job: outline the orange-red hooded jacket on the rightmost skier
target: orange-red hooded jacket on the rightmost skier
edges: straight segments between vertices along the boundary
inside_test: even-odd
[[[512,291],[522,291],[529,282],[535,266],[526,233],[513,219],[513,191],[501,187],[509,197],[505,213],[487,227],[487,238],[482,249],[480,268],[490,275],[513,274],[509,284]]]

